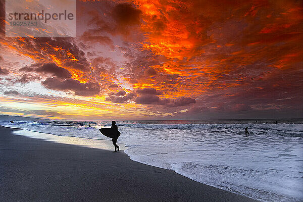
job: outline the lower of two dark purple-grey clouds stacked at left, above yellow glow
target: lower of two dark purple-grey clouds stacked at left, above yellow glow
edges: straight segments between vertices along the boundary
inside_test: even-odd
[[[61,80],[56,77],[49,77],[45,81],[42,81],[41,84],[48,89],[61,91],[71,90],[75,95],[80,96],[93,96],[100,92],[100,86],[97,82],[81,83],[71,78]]]

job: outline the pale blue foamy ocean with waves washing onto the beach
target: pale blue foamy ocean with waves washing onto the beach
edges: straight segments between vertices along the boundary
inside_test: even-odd
[[[92,128],[88,128],[91,124]],[[41,133],[108,140],[111,121],[0,121]],[[117,121],[133,161],[260,201],[303,201],[303,119]],[[245,127],[249,135],[245,135]],[[113,148],[114,149],[114,146]]]

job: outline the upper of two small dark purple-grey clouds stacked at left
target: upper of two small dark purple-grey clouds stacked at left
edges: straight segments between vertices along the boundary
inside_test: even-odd
[[[71,78],[71,74],[67,69],[57,66],[55,63],[46,64],[35,64],[31,66],[26,66],[20,69],[20,71],[26,72],[37,72],[37,73],[50,73],[52,76],[57,76],[58,78]]]

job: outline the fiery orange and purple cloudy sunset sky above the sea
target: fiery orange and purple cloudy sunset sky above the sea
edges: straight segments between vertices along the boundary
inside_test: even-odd
[[[0,6],[0,114],[303,118],[301,0],[78,0],[76,37],[6,37]]]

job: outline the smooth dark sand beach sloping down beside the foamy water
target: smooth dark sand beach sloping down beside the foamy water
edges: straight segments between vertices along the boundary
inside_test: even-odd
[[[0,201],[255,201],[109,150],[0,126]]]

